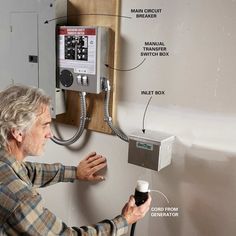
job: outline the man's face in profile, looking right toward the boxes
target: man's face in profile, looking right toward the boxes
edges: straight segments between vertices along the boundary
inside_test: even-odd
[[[23,155],[39,156],[44,151],[47,139],[52,137],[50,128],[51,115],[49,107],[42,105],[36,117],[36,121],[29,131],[24,134],[22,148]]]

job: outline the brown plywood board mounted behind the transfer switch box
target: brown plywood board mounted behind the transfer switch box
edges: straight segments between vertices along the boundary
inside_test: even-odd
[[[68,25],[106,26],[111,29],[109,65],[116,67],[117,45],[119,39],[119,0],[71,0],[68,6]],[[116,73],[110,70],[109,80],[113,91],[110,97],[110,115],[115,118],[115,79]],[[104,94],[87,95],[87,116],[89,121],[86,128],[103,133],[111,133],[104,122]],[[78,126],[80,121],[80,104],[77,92],[67,92],[67,112],[57,116],[57,121]]]

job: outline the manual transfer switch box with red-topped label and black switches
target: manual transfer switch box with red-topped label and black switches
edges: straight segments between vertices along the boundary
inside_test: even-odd
[[[99,94],[108,78],[109,29],[60,26],[58,44],[60,88]]]

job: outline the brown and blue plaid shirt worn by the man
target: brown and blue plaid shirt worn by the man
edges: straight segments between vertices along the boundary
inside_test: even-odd
[[[43,207],[35,188],[75,179],[76,167],[16,161],[0,150],[0,236],[126,234],[128,226],[122,216],[93,226],[71,228]]]

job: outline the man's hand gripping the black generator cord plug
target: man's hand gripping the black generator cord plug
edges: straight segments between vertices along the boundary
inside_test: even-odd
[[[136,206],[134,197],[130,196],[129,202],[126,203],[122,210],[122,215],[127,220],[128,224],[133,224],[146,215],[149,210],[151,200],[152,199],[149,194],[148,199],[145,203],[140,206]]]

